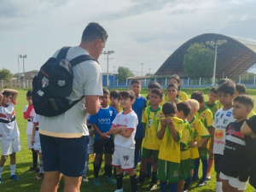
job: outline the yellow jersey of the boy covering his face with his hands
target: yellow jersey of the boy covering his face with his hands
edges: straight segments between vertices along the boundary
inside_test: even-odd
[[[183,120],[178,119],[177,117],[172,117],[173,119],[173,125],[175,130],[177,131],[177,137],[182,137],[182,131],[183,131]],[[161,125],[158,125],[158,131],[160,131]],[[160,150],[158,158],[160,160],[167,160],[171,161],[173,163],[180,163],[180,143],[176,142],[173,137],[172,133],[169,130],[169,126],[166,126],[165,135],[161,140],[160,143]]]

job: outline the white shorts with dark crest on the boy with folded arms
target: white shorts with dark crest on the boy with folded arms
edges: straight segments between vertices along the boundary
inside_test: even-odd
[[[123,171],[134,170],[134,149],[114,146],[112,166],[120,166]]]

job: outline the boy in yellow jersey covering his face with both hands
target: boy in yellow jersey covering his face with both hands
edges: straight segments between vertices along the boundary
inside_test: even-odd
[[[165,118],[161,119],[157,132],[157,137],[161,140],[157,178],[160,180],[161,192],[167,191],[167,182],[171,182],[171,192],[176,192],[183,120],[176,117],[177,107],[174,102],[166,102],[163,105],[162,112]]]

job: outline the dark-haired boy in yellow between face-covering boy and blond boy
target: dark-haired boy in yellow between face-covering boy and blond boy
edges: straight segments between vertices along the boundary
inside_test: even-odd
[[[191,130],[187,117],[190,113],[190,106],[188,102],[177,103],[177,118],[183,119],[184,128],[182,137],[180,139],[180,167],[179,167],[179,181],[177,183],[177,192],[183,191],[184,179],[190,176],[190,142],[191,142]]]

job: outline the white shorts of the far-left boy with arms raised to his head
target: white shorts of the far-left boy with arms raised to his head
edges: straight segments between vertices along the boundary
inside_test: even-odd
[[[20,137],[16,137],[11,140],[1,141],[1,151],[2,155],[9,155],[20,151]]]

